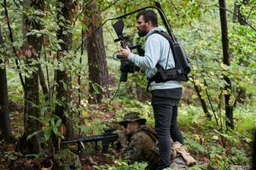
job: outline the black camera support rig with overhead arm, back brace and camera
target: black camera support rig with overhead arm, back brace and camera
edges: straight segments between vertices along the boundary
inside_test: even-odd
[[[115,39],[114,42],[121,42],[121,47],[122,48],[126,47],[126,45],[127,45],[126,40],[129,37],[126,37],[123,35],[123,29],[124,29],[123,19],[128,15],[135,14],[135,13],[142,11],[146,8],[157,9],[158,13],[160,14],[160,18],[163,21],[164,26],[166,27],[166,31],[168,32],[168,35],[166,35],[167,36],[166,39],[168,39],[168,41],[170,43],[170,47],[172,48],[173,58],[175,60],[175,63],[177,64],[177,66],[175,68],[169,69],[169,70],[171,70],[171,74],[169,74],[170,73],[169,70],[162,69],[161,71],[159,71],[159,69],[158,69],[160,78],[161,78],[161,80],[163,80],[162,82],[169,81],[169,80],[187,82],[189,80],[188,74],[191,70],[190,65],[189,65],[189,60],[188,60],[187,55],[185,54],[182,46],[179,45],[179,43],[173,36],[171,25],[169,24],[168,20],[166,19],[166,15],[160,8],[157,8],[154,6],[148,6],[145,8],[137,9],[131,13],[121,15],[117,18],[109,19],[109,20],[118,20],[116,23],[113,24],[114,31],[116,31],[116,34],[118,36],[118,38]],[[108,20],[106,20],[106,22],[107,21]],[[137,53],[140,56],[144,55],[144,51],[141,46],[134,46],[134,47],[129,47],[129,48],[131,50],[136,48]],[[119,52],[116,52],[113,54],[113,59],[119,60],[121,63],[121,65],[120,65],[120,71],[121,71],[120,82],[126,82],[128,73],[129,72],[133,73],[134,71],[137,71],[138,69],[136,69],[136,66],[133,63],[131,63],[131,61],[129,61],[127,59],[123,59],[123,56],[120,54],[117,54],[117,53],[119,53]],[[155,75],[155,76],[157,76],[157,75]],[[176,79],[173,79],[174,76]],[[149,80],[149,81],[152,82],[151,80]],[[120,85],[120,82],[119,82],[119,85]],[[119,88],[118,88],[118,90],[119,90]],[[117,92],[118,92],[118,90],[117,90]],[[116,94],[117,94],[117,92],[116,92]],[[114,94],[113,99],[116,94]]]

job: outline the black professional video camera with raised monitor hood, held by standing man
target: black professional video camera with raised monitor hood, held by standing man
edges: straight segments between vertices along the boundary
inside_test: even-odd
[[[123,30],[124,30],[124,21],[123,19],[118,20],[116,23],[113,24],[113,29],[116,32],[118,38],[114,40],[114,42],[120,42],[121,43],[121,48],[130,48],[131,50],[137,49],[137,53],[140,56],[144,55],[144,50],[141,45],[137,46],[129,46],[127,43],[127,40],[129,39],[128,36],[123,35]],[[128,73],[134,73],[135,71],[139,71],[139,68],[135,66],[131,61],[124,59],[123,55],[118,54],[119,52],[116,52],[113,54],[113,59],[119,60],[120,61],[120,82],[127,82],[127,76]]]

